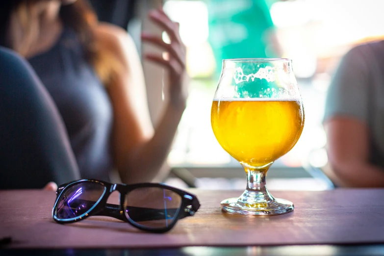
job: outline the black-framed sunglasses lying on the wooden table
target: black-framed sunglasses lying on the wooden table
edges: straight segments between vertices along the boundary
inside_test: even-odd
[[[106,203],[113,191],[120,192],[120,205]],[[80,179],[59,186],[52,217],[58,223],[72,223],[89,216],[108,216],[140,230],[166,232],[199,207],[195,195],[164,184]]]

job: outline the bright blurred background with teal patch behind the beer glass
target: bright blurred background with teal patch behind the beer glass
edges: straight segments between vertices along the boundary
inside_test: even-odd
[[[148,22],[148,10],[163,6],[180,24],[181,40],[187,47],[190,96],[168,156],[172,173],[166,183],[204,189],[245,188],[244,170],[218,144],[210,124],[221,60],[284,57],[293,60],[306,122],[296,146],[269,170],[268,188],[333,188],[321,171],[328,162],[322,127],[325,96],[340,58],[355,45],[383,38],[383,0],[116,0],[115,9],[124,3],[128,10],[126,15],[120,11],[121,17],[105,16],[100,1],[91,2],[102,20],[123,27],[128,23],[125,28],[139,52],[154,50],[141,44],[141,31],[161,33]],[[114,21],[116,17],[120,20]],[[163,40],[169,40],[166,34]],[[144,62],[143,66],[156,124],[166,100],[162,93],[166,76],[153,64]]]

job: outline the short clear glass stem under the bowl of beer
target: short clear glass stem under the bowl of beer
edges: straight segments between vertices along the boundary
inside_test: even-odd
[[[243,164],[247,173],[247,189],[238,198],[241,203],[262,204],[274,201],[273,196],[268,192],[265,185],[265,178],[272,163],[260,168],[250,167]]]

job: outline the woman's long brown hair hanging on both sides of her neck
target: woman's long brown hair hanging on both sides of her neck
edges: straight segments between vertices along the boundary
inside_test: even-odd
[[[5,0],[0,1],[0,46],[11,48],[24,55],[28,47],[29,38],[33,35],[34,25],[31,22],[33,16],[32,6],[39,1],[47,0]],[[12,42],[10,38],[11,14],[16,14],[21,25],[22,42]],[[62,5],[59,12],[64,26],[71,27],[77,33],[82,44],[85,59],[94,67],[96,73],[105,85],[113,82],[120,64],[112,53],[101,50],[95,40],[94,27],[98,20],[86,0],[77,0],[68,5]],[[24,52],[23,52],[24,51]]]

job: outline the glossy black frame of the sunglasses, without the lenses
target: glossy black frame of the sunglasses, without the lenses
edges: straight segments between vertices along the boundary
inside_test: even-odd
[[[95,203],[95,205],[91,207],[90,210],[88,210],[86,213],[81,214],[78,217],[71,218],[71,219],[57,218],[54,212],[61,195],[72,186],[78,183],[83,183],[83,182],[93,182],[93,183],[99,183],[103,185],[104,192],[101,198]],[[136,188],[145,188],[145,187],[164,188],[177,193],[181,197],[181,204],[174,216],[174,221],[171,224],[169,224],[167,227],[164,227],[164,228],[146,227],[134,222],[133,220],[128,218],[129,215],[127,217],[126,214],[124,213],[124,202],[126,200],[128,193]],[[106,203],[110,194],[114,191],[120,192],[120,205]],[[162,233],[162,232],[171,230],[179,219],[182,219],[188,216],[193,216],[195,212],[199,209],[199,207],[200,207],[200,203],[195,195],[188,193],[186,191],[183,191],[181,189],[162,184],[162,183],[136,183],[136,184],[127,185],[127,184],[109,183],[109,182],[105,182],[98,179],[78,179],[78,180],[74,180],[74,181],[62,184],[57,188],[56,200],[52,208],[52,218],[57,223],[65,224],[65,223],[78,222],[90,216],[108,216],[108,217],[113,217],[113,218],[128,222],[130,225],[140,230]]]

